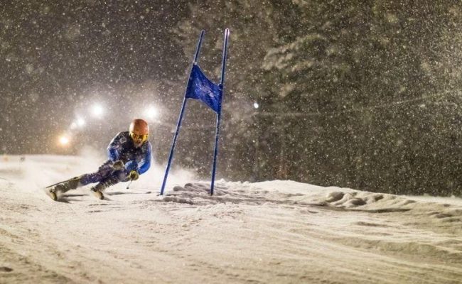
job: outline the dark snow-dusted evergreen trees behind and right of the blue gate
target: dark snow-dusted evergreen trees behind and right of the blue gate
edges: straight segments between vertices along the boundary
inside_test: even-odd
[[[210,31],[212,77],[232,32],[219,175],[461,195],[461,4],[218,2],[191,5],[173,31],[185,54],[195,27]],[[212,146],[199,142],[179,151],[206,175]]]

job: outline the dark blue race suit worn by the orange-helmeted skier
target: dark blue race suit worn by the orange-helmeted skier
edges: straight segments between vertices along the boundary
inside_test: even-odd
[[[82,175],[81,185],[88,185],[93,182],[105,183],[107,186],[115,185],[118,182],[128,181],[129,173],[136,170],[140,175],[146,173],[151,166],[152,146],[149,141],[136,147],[130,138],[129,131],[123,131],[112,138],[107,146],[107,160],[98,168],[95,173]],[[123,170],[114,170],[112,165],[117,160],[124,162]]]

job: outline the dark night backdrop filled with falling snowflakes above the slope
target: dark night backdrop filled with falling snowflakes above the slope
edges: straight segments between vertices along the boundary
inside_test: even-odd
[[[461,195],[460,3],[7,2],[1,154],[103,151],[141,117],[164,163],[198,34],[217,82],[230,28],[218,178]],[[210,175],[214,123],[188,104],[178,165]]]

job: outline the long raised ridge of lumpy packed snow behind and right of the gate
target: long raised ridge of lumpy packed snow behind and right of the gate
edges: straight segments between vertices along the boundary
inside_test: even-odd
[[[270,184],[281,183],[284,186],[276,190]],[[270,185],[270,186],[265,186]],[[220,180],[215,186],[214,195],[210,196],[210,182],[187,183],[175,186],[161,202],[178,202],[195,205],[210,204],[284,204],[286,206],[311,206],[323,207],[337,211],[367,212],[367,213],[392,213],[407,212],[405,216],[418,215],[423,217],[413,219],[421,222],[421,225],[431,225],[434,229],[462,234],[462,200],[460,206],[440,202],[425,202],[409,199],[399,195],[382,194],[376,192],[364,192],[359,190],[343,189],[339,187],[317,187],[294,181],[274,182],[226,182]],[[451,226],[445,226],[450,223]]]

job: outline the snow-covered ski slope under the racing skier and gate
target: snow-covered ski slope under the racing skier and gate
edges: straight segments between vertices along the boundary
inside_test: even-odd
[[[43,187],[102,160],[0,160],[0,283],[462,283],[462,201],[163,166],[97,200]],[[152,192],[151,194],[146,192]]]

